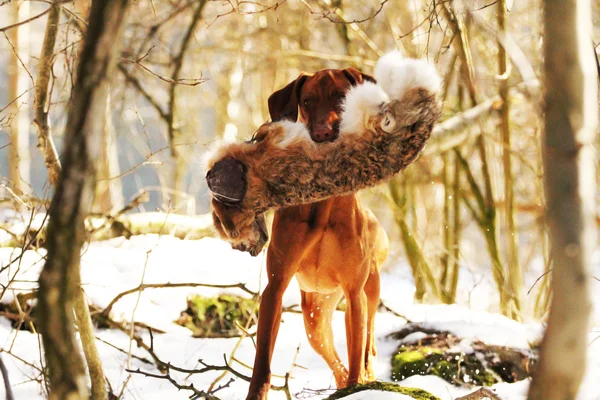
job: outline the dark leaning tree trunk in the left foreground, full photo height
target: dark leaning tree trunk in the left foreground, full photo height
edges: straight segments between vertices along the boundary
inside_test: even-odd
[[[84,219],[92,206],[109,77],[115,66],[127,0],[94,0],[73,88],[63,171],[52,199],[48,256],[39,279],[39,324],[50,399],[87,399],[87,379],[73,325]]]

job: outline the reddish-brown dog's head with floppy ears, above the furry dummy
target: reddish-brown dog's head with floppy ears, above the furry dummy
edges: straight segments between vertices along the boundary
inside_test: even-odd
[[[351,86],[363,81],[375,79],[356,68],[302,73],[269,97],[271,119],[304,122],[315,142],[335,140],[339,135],[342,100]]]

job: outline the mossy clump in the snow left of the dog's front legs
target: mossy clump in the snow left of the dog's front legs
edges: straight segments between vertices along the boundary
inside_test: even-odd
[[[188,307],[176,321],[189,328],[195,337],[239,336],[240,326],[257,319],[258,304],[252,299],[223,294],[218,297],[193,296]]]

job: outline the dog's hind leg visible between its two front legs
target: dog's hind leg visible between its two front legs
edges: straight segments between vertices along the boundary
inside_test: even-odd
[[[338,388],[346,387],[348,370],[335,350],[331,319],[342,294],[341,289],[331,294],[301,291],[302,315],[308,342],[333,371]]]

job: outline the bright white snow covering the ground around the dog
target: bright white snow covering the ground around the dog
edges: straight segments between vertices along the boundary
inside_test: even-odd
[[[18,249],[0,249],[0,266],[8,265],[9,261],[19,254]],[[2,298],[7,303],[19,291],[26,291],[36,286],[37,277],[43,265],[44,251],[39,253],[27,251],[19,263],[14,263],[0,275],[0,283],[5,285],[13,281]],[[599,264],[599,263],[597,263]],[[119,293],[137,287],[140,283],[209,283],[237,284],[245,283],[253,291],[259,290],[266,284],[264,276],[264,254],[251,258],[247,254],[232,251],[229,246],[216,239],[199,241],[182,241],[172,237],[145,235],[133,237],[130,240],[116,238],[104,242],[94,242],[85,248],[82,258],[82,281],[89,300],[100,307],[106,307]],[[600,269],[600,268],[597,268]],[[599,271],[596,271],[599,272]],[[539,324],[520,324],[501,315],[489,313],[485,309],[494,309],[497,296],[493,283],[483,278],[485,271],[473,272],[468,269],[461,271],[459,296],[463,304],[469,305],[416,305],[413,304],[414,285],[410,269],[405,264],[398,264],[382,277],[382,299],[384,302],[415,321],[436,329],[448,330],[466,339],[479,339],[488,344],[528,348],[539,340],[542,328]],[[480,274],[481,276],[478,276]],[[596,275],[599,275],[598,273]],[[594,282],[596,296],[599,294],[599,282]],[[165,331],[165,334],[155,334],[153,346],[158,357],[184,368],[199,368],[199,360],[207,364],[222,365],[223,357],[229,357],[238,339],[196,339],[191,332],[173,323],[186,307],[186,297],[200,293],[206,296],[220,292],[233,292],[247,295],[236,289],[209,288],[161,288],[147,289],[141,293],[123,297],[118,301],[112,316],[117,320],[144,322],[149,326]],[[299,290],[295,281],[285,294],[284,305],[299,304]],[[598,302],[597,302],[598,304]],[[596,328],[590,332],[589,366],[579,400],[600,400],[600,387],[596,378],[600,376],[600,318],[598,310],[594,314]],[[377,376],[381,380],[390,379],[390,357],[398,343],[386,336],[399,330],[405,320],[390,313],[380,313],[376,320],[376,337],[378,357],[376,364]],[[336,312],[333,320],[336,332],[336,347],[344,360],[345,335],[344,315]],[[169,382],[142,375],[130,374],[126,368],[141,369],[151,373],[159,373],[152,364],[136,358],[128,360],[130,348],[129,337],[116,330],[98,330],[98,348],[102,355],[107,378],[115,393],[121,392],[124,382],[125,399],[187,399],[189,392],[177,391]],[[142,333],[146,343],[150,336]],[[107,344],[107,343],[110,343]],[[112,346],[111,346],[112,345]],[[120,350],[116,349],[118,347]],[[44,398],[38,383],[40,376],[40,343],[37,335],[26,331],[16,332],[8,321],[0,318],[0,347],[13,356],[3,353],[2,358],[8,365],[11,382],[17,399]],[[131,346],[132,354],[149,360],[150,356],[138,349],[135,343]],[[322,359],[310,348],[304,334],[302,316],[285,313],[279,331],[272,364],[273,374],[284,376],[290,371],[295,360],[296,367],[292,369],[290,387],[292,393],[299,399],[319,399],[333,391],[334,380],[330,370]],[[18,357],[18,358],[17,358]],[[21,360],[19,360],[19,358]],[[246,365],[252,365],[254,346],[250,339],[244,339],[235,354],[236,360]],[[129,363],[129,367],[128,367]],[[236,362],[232,364],[238,371],[250,375],[250,370]],[[180,383],[193,383],[197,388],[207,388],[219,375],[218,372],[196,374],[188,377],[186,374],[172,374]],[[229,377],[220,381],[226,383]],[[281,385],[282,378],[274,377],[273,383]],[[471,390],[454,387],[440,378],[433,376],[413,376],[401,384],[419,387],[432,392],[441,399],[449,400],[469,393]],[[528,382],[516,384],[498,384],[495,391],[506,400],[526,398]],[[224,400],[237,400],[245,397],[248,384],[236,379],[231,385],[218,392]],[[324,390],[330,389],[330,390]],[[0,397],[2,391],[0,389]],[[270,399],[284,399],[282,392],[271,392]],[[372,394],[361,392],[351,399],[371,399]],[[398,394],[389,397],[378,394],[378,399],[403,399]]]

